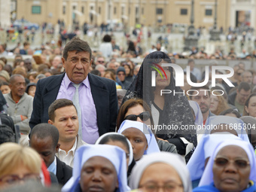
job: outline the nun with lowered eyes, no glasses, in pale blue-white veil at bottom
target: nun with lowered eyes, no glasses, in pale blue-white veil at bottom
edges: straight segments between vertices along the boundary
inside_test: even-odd
[[[62,192],[104,190],[126,192],[130,190],[126,178],[126,155],[113,145],[84,145],[75,152],[72,178]]]

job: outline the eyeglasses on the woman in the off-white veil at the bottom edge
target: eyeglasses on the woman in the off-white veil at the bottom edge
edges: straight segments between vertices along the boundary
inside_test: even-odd
[[[139,188],[143,188],[145,191],[148,192],[156,192],[159,190],[159,188],[163,188],[165,192],[175,192],[175,191],[180,191],[178,188],[182,187],[182,184],[177,184],[174,181],[168,182],[166,184],[163,184],[162,186],[157,185],[156,183],[148,183],[139,186]]]

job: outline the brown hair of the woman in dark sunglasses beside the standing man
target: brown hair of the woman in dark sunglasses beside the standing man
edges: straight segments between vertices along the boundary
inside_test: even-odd
[[[137,105],[142,105],[142,108],[145,111],[148,111],[150,114],[151,125],[154,125],[154,120],[152,118],[151,109],[148,107],[147,103],[145,103],[142,99],[129,99],[120,106],[120,109],[117,114],[117,130],[119,130],[121,123],[124,120],[124,116],[129,110],[129,108],[133,108]]]

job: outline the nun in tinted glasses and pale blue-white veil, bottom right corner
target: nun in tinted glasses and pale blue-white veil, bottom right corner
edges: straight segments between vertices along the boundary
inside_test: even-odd
[[[199,187],[193,191],[254,192],[255,181],[256,159],[251,144],[242,140],[226,140],[215,148]]]

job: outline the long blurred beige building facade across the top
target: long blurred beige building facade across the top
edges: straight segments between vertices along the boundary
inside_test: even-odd
[[[10,10],[10,1],[12,9]],[[189,25],[190,0],[0,0],[1,23],[7,18],[25,19],[42,24],[64,21],[66,26],[83,23],[122,23],[125,26]],[[255,0],[218,0],[217,25],[227,30],[230,26],[256,26]],[[209,29],[214,23],[215,0],[194,2],[194,26]],[[6,17],[11,11],[11,17]],[[5,16],[6,18],[4,18]],[[15,17],[15,18],[14,18]],[[6,21],[5,21],[6,23]]]

